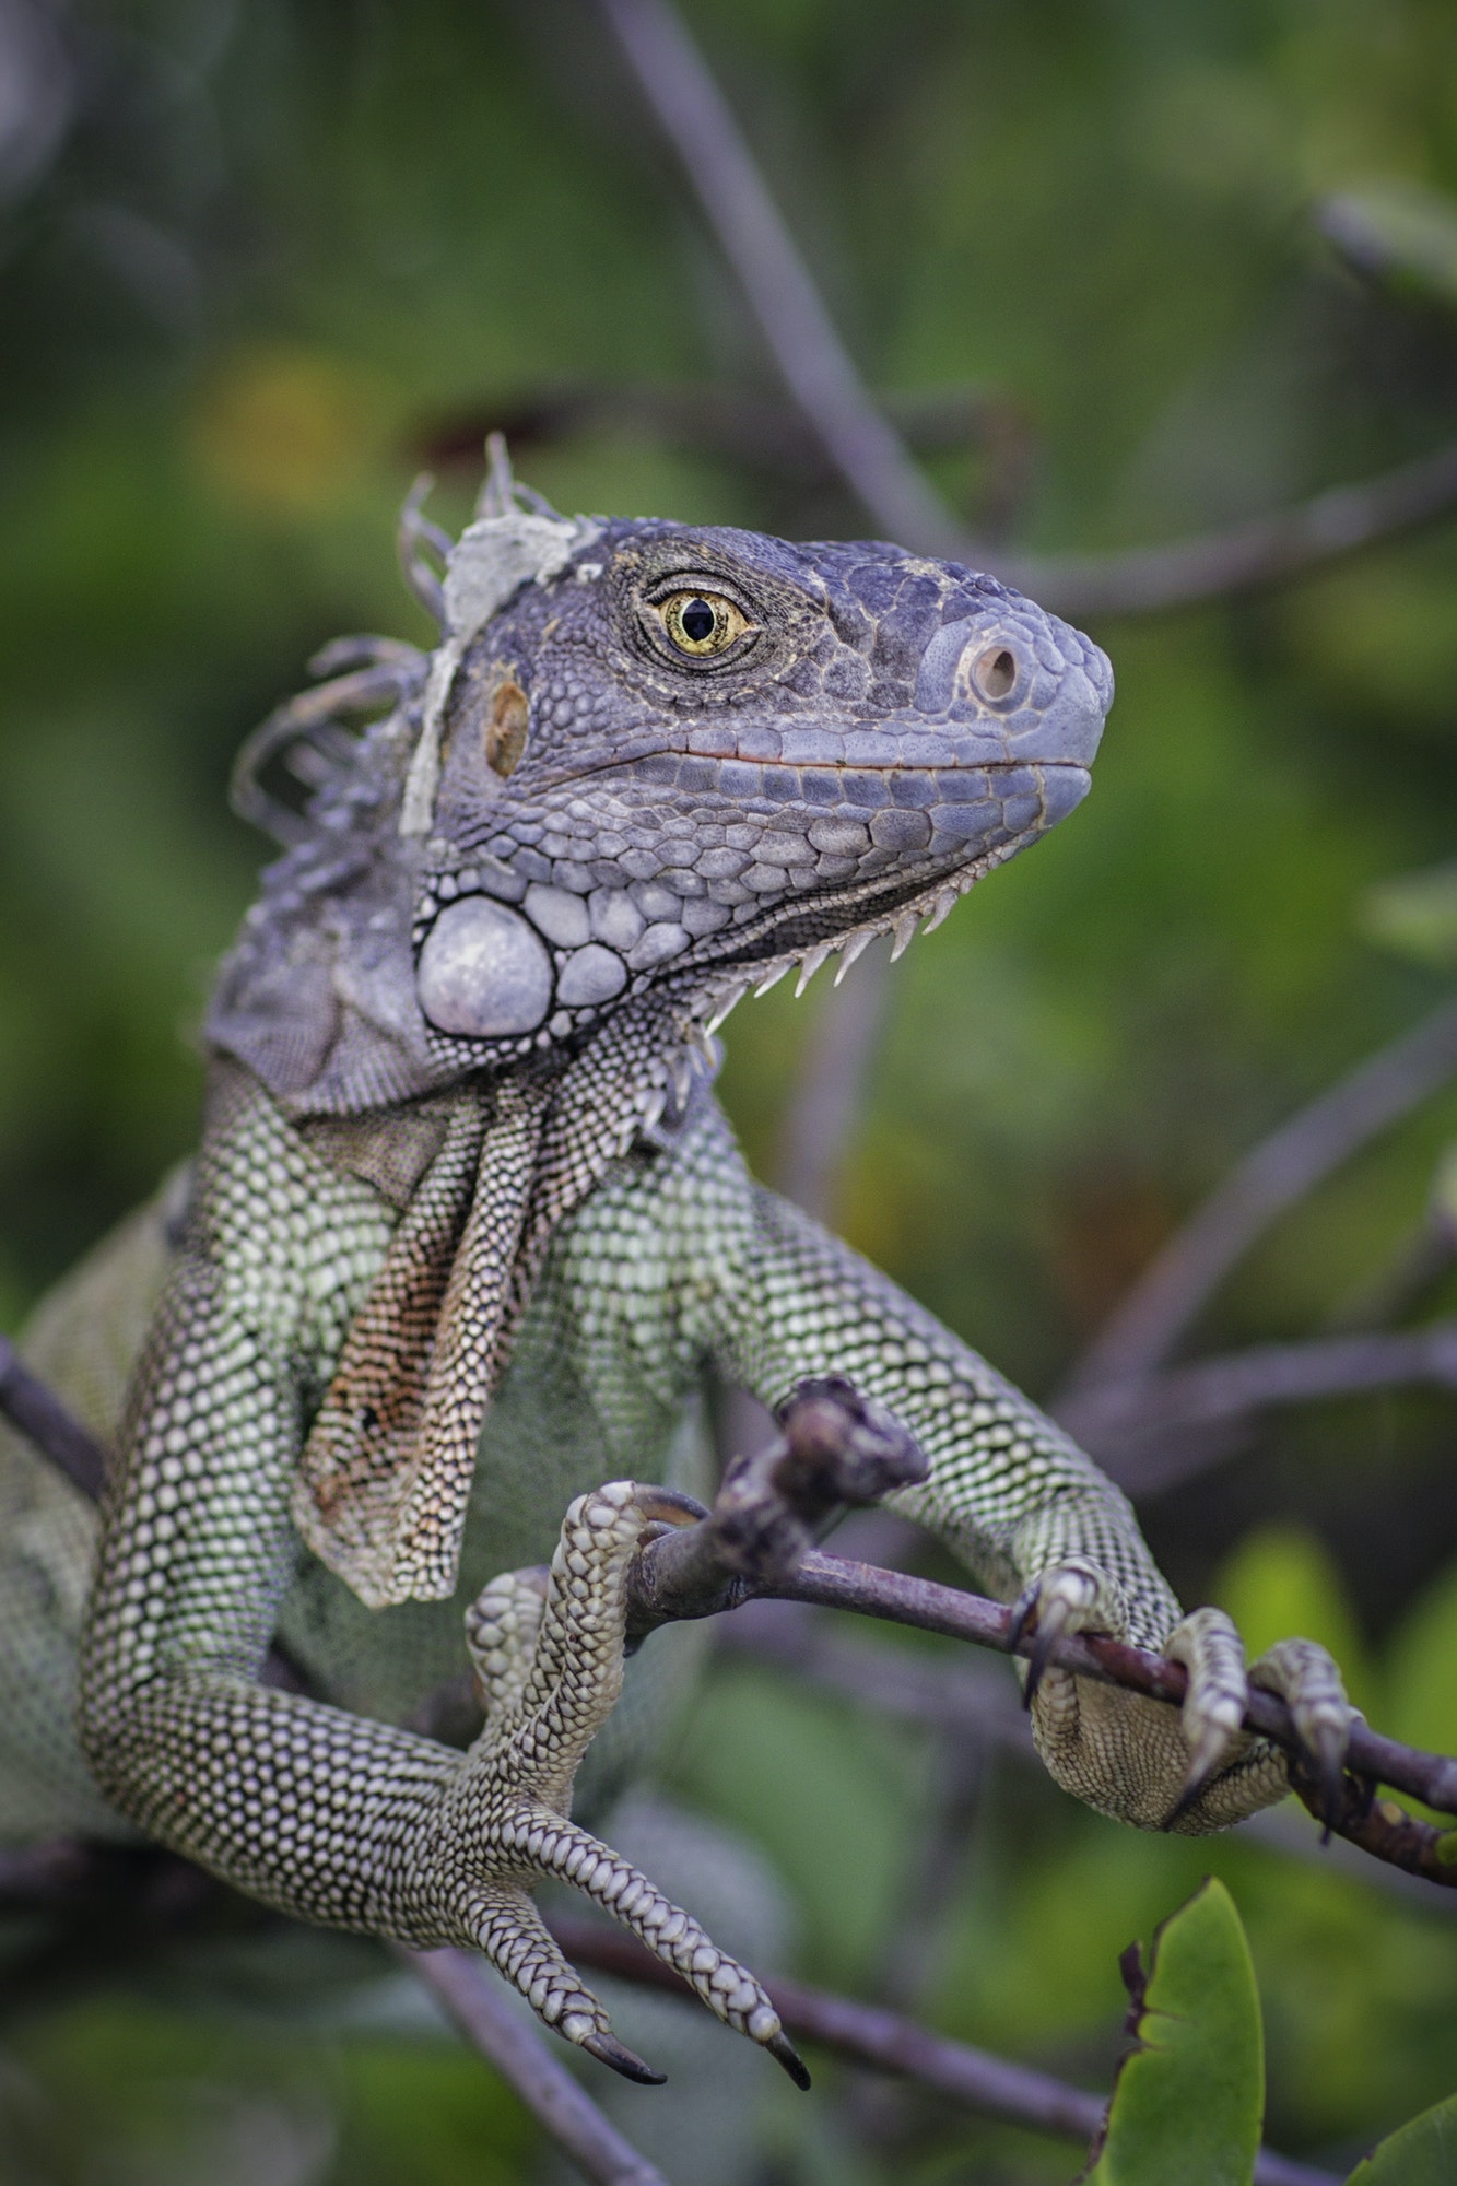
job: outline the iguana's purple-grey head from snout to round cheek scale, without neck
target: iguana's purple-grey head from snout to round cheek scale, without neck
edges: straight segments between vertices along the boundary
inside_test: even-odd
[[[477,522],[451,575],[547,522]],[[1109,662],[995,577],[672,522],[558,549],[435,656],[405,828],[438,1051],[571,1047],[650,992],[713,1021],[908,940],[1087,791]]]

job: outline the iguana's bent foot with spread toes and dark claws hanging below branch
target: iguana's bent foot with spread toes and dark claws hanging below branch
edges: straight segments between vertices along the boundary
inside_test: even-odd
[[[645,1528],[663,1517],[680,1524],[680,1504],[630,1480],[580,1495],[551,1570],[492,1578],[466,1611],[488,1716],[440,1817],[438,1858],[470,1862],[470,1880],[451,1891],[451,1928],[486,1952],[547,2026],[628,2079],[658,2081],[617,2042],[529,1900],[545,1876],[571,1882],[807,2088],[809,2075],[755,1976],[567,1819],[578,1764],[621,1692],[628,1567]],[[462,1847],[470,1847],[464,1858]]]

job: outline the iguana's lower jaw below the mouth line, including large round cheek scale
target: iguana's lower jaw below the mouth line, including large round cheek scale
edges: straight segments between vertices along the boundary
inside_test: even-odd
[[[722,772],[755,763],[700,756],[687,765]],[[742,992],[750,975],[809,955],[823,962],[888,929],[897,931],[899,953],[901,927],[908,940],[921,916],[945,916],[991,866],[1072,811],[1089,785],[1087,767],[1068,761],[858,772],[779,765],[799,785],[788,804],[759,798],[755,809],[715,772],[676,783],[680,791],[735,796],[726,807],[733,822],[720,833],[742,839],[700,848],[696,870],[678,872],[676,883],[674,868],[663,866],[663,879],[637,892],[575,892],[558,881],[525,881],[494,853],[435,874],[416,914],[418,992],[435,1034],[529,1054],[571,1045],[654,986],[669,997],[696,990],[691,1014],[722,1019],[735,979]],[[637,761],[619,772],[634,791],[652,785]],[[803,794],[809,774],[836,789],[834,804]],[[866,776],[906,776],[925,794],[847,809],[842,791],[853,796]]]

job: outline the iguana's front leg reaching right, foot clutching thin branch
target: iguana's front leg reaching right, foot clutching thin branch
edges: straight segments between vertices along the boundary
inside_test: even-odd
[[[1284,1797],[1282,1755],[1240,1729],[1249,1681],[1289,1701],[1326,1782],[1339,1782],[1350,1707],[1326,1650],[1284,1642],[1247,1672],[1221,1611],[1181,1615],[1127,1497],[1092,1460],[877,1268],[768,1191],[755,1194],[742,1261],[715,1301],[713,1344],[770,1406],[827,1371],[888,1406],[932,1465],[895,1502],[989,1591],[1019,1600],[1044,1644],[1107,1633],[1186,1664],[1175,1716],[1035,1661],[1037,1749],[1079,1799],[1138,1827],[1201,1834]]]

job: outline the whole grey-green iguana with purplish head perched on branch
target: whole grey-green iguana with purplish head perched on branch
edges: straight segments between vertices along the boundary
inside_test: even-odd
[[[556,1876],[794,2070],[755,1976],[569,1819],[628,1559],[661,1486],[702,1486],[709,1371],[770,1408],[849,1377],[930,1460],[899,1508],[980,1587],[1188,1666],[1181,1718],[1041,1674],[1068,1790],[1186,1832],[1286,1790],[1229,1620],[1184,1618],[1092,1460],[753,1183],[711,1093],[748,986],[899,951],[1081,802],[1111,671],[954,562],[564,520],[501,470],[440,614],[429,656],[357,651],[387,717],[315,739],[206,1019],[195,1167],[39,1316],[114,1467],[96,1546],[0,1445],[0,1819],[140,1827],[300,1919],[477,1946],[648,2077],[534,1911]],[[510,1567],[547,1554],[543,1596]],[[260,1681],[276,1635],[333,1705]],[[457,1751],[409,1725],[466,1653],[488,1718]],[[1330,1657],[1249,1677],[1339,1758]]]

